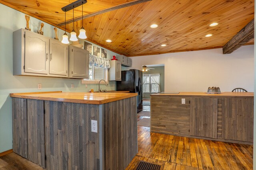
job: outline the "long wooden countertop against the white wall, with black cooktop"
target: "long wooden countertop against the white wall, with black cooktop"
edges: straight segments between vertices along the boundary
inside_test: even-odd
[[[151,94],[150,96],[196,96],[196,97],[214,97],[214,98],[254,98],[254,92],[222,92],[220,94],[208,94],[205,92],[180,92],[179,94],[168,94],[171,92],[165,92],[160,94]]]

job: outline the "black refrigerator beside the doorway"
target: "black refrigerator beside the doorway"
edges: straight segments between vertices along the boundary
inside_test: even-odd
[[[129,91],[130,93],[138,93],[137,96],[137,112],[142,108],[142,80],[143,74],[141,70],[122,71],[122,81],[116,82],[116,91]]]

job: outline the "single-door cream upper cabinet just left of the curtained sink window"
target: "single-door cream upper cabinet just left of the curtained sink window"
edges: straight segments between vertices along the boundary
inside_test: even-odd
[[[73,45],[68,47],[68,51],[68,77],[89,78],[89,52]]]

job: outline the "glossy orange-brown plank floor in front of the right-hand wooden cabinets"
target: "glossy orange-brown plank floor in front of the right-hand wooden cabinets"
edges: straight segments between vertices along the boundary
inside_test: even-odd
[[[252,152],[252,145],[150,133],[138,126],[138,153],[126,170],[139,160],[162,164],[163,170],[250,170]]]

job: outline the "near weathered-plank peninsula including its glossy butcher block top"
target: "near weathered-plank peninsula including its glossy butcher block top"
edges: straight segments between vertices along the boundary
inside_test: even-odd
[[[10,96],[13,151],[47,170],[123,170],[137,153],[137,94]]]

